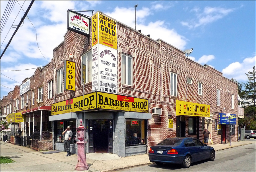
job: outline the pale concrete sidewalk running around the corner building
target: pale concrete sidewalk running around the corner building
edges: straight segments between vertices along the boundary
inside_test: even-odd
[[[247,145],[255,141],[239,141],[229,144],[210,145],[215,151]],[[28,147],[22,147],[1,141],[1,156],[8,156],[14,163],[1,164],[0,171],[77,171],[77,155],[65,156],[66,152],[44,154],[51,151],[35,151]],[[86,162],[89,169],[86,171],[116,171],[128,167],[150,164],[148,154],[118,157],[117,154],[86,154]]]

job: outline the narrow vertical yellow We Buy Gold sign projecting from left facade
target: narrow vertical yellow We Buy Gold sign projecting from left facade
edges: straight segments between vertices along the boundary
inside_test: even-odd
[[[75,62],[69,60],[65,61],[64,90],[75,91],[75,67]]]

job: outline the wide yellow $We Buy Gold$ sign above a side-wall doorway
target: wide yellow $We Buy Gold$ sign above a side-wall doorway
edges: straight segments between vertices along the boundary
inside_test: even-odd
[[[176,100],[176,116],[210,117],[210,105]]]

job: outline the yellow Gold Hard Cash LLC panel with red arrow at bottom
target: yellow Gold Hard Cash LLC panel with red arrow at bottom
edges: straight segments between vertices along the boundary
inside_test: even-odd
[[[117,50],[116,21],[99,14],[99,43]]]

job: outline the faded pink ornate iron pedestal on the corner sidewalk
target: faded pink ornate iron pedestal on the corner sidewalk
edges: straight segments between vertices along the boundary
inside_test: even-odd
[[[85,155],[85,144],[87,143],[85,139],[85,131],[86,128],[82,125],[82,119],[80,119],[80,126],[77,128],[77,139],[79,141],[77,142],[77,150],[78,150],[78,155],[77,155],[77,165],[76,165],[76,170],[83,171],[83,170],[88,170],[89,166],[86,163],[86,155]],[[83,141],[84,140],[84,141]]]

